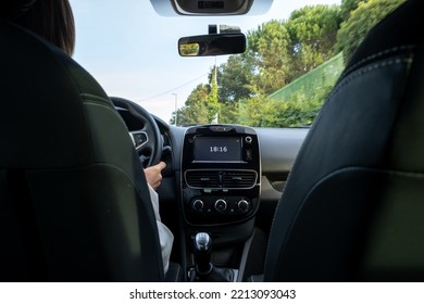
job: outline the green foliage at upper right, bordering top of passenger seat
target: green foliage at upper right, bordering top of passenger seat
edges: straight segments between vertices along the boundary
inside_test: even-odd
[[[342,51],[345,62],[348,62],[366,34],[383,17],[398,8],[404,0],[369,0],[360,2],[350,13],[337,34],[336,52]]]

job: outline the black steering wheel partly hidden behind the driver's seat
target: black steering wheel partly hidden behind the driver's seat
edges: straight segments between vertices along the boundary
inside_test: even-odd
[[[132,117],[133,121],[134,118],[137,121],[137,128],[140,127],[140,129],[133,130],[133,127],[127,125],[142,167],[147,168],[158,164],[162,157],[163,139],[153,116],[134,101],[120,97],[110,97],[110,99],[121,115],[129,115],[123,117],[126,123],[126,118]]]

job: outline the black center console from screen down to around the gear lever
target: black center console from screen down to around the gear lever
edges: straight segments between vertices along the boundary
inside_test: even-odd
[[[238,271],[244,244],[253,231],[260,185],[261,159],[254,129],[202,125],[186,130],[182,202],[191,270],[192,240],[204,232],[213,240],[212,263]]]

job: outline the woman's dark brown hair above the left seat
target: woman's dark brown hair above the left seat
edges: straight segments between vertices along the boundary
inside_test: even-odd
[[[28,28],[72,55],[75,23],[68,0],[37,0],[14,23]]]

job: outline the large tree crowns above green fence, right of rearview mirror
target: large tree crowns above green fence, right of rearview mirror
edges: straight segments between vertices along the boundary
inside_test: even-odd
[[[242,63],[250,96],[272,93],[334,56],[340,23],[338,5],[314,5],[249,31]]]

